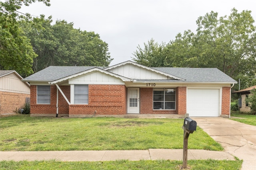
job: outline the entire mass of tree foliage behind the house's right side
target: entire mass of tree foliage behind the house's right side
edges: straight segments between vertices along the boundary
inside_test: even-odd
[[[150,46],[145,43],[144,49],[137,47],[139,53],[134,53],[134,61],[146,61],[150,66],[162,63],[161,66],[170,67],[218,68],[236,80],[247,79],[246,87],[254,85],[251,82],[256,80],[256,26],[251,11],[239,13],[233,8],[229,16],[220,18],[217,12],[210,12],[200,16],[196,23],[196,33],[178,33],[175,40],[161,47],[161,56],[154,55],[157,50],[149,51]]]

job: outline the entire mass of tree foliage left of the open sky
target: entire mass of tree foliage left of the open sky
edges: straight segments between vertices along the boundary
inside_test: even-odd
[[[73,23],[52,17],[20,16],[22,5],[50,0],[0,2],[0,68],[16,70],[23,77],[55,66],[108,66],[112,59],[100,35],[74,29]]]

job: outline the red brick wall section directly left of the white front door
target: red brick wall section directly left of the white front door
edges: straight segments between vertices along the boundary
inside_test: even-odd
[[[126,87],[124,85],[89,84],[88,105],[70,105],[69,114],[122,115],[126,114]]]

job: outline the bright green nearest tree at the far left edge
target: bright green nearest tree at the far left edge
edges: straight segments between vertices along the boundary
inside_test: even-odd
[[[16,20],[17,10],[36,0],[6,0],[0,2],[0,69],[16,70],[23,77],[33,73],[32,62],[36,57],[30,40],[24,36]],[[37,0],[47,6],[49,0]]]

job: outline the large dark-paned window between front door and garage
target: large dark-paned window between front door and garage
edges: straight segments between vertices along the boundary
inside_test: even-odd
[[[153,89],[153,109],[175,109],[176,90],[173,88]]]

